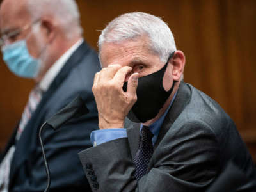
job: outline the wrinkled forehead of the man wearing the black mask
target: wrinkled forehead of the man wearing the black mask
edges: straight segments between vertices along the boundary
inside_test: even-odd
[[[100,60],[103,67],[117,63],[122,66],[140,63],[152,56],[156,57],[157,55],[151,51],[148,38],[145,36],[118,43],[104,42],[100,49]]]

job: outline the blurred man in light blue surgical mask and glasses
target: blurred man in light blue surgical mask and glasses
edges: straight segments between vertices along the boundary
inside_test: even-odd
[[[77,95],[90,114],[74,118],[60,132],[45,129],[42,139],[51,191],[90,191],[76,154],[91,147],[90,132],[98,124],[92,85],[100,64],[83,39],[76,1],[4,0],[0,29],[8,68],[35,81],[19,124],[0,154],[0,192],[44,191],[47,179],[38,129]],[[19,85],[12,86],[14,91]]]

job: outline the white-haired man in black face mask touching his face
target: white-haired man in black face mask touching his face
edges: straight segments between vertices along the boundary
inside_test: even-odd
[[[184,83],[185,56],[161,19],[117,17],[99,37],[99,56],[93,94],[100,130],[79,153],[93,191],[205,191],[231,158],[248,177],[239,191],[255,189],[234,122]]]

